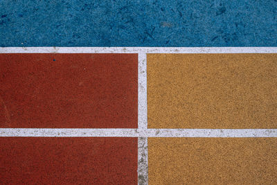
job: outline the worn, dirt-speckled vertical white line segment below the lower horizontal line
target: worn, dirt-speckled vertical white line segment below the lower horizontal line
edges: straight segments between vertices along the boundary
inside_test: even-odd
[[[148,184],[148,138],[138,138],[138,184]]]

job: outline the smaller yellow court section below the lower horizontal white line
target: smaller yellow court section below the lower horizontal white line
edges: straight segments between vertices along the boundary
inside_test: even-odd
[[[149,138],[149,184],[276,184],[277,138]]]

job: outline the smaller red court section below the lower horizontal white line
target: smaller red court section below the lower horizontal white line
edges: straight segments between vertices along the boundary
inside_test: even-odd
[[[137,184],[136,138],[0,137],[0,184]]]

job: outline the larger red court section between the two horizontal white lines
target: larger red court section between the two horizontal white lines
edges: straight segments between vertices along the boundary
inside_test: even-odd
[[[136,128],[137,54],[0,54],[0,127]]]

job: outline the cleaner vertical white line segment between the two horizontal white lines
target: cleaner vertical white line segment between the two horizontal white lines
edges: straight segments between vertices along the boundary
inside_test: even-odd
[[[139,109],[138,109],[138,128],[146,130],[148,128],[147,120],[147,72],[146,72],[146,53],[139,52]]]

